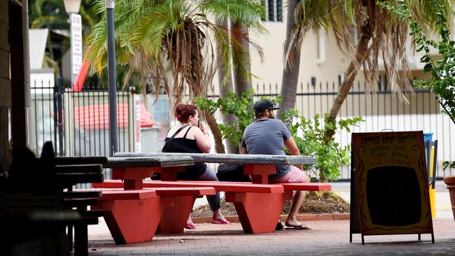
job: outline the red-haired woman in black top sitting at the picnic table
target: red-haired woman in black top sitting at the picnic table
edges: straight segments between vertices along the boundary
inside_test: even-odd
[[[197,108],[190,104],[179,104],[176,106],[174,115],[180,124],[171,127],[167,131],[165,145],[162,152],[180,153],[208,153],[211,148],[209,132],[204,123],[199,120]],[[218,180],[216,173],[207,164],[196,163],[186,166],[183,173],[179,173],[179,180]],[[215,195],[206,196],[211,211],[214,212],[212,223],[229,224],[220,211],[220,192]],[[191,220],[191,215],[186,222],[187,229],[195,229],[196,226]]]

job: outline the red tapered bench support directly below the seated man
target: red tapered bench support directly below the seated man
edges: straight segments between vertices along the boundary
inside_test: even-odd
[[[285,193],[226,192],[233,202],[245,233],[274,232],[285,201]]]

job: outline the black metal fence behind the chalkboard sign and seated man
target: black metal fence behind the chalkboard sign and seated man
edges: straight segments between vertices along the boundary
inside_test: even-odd
[[[306,118],[312,118],[316,113],[322,116],[330,112],[332,102],[337,95],[339,83],[319,83],[316,85],[300,84],[297,88],[295,108]],[[379,86],[384,88],[384,86]],[[276,97],[280,94],[278,85],[255,85],[255,100],[262,96]],[[437,178],[453,175],[455,169],[442,171],[443,161],[455,159],[455,125],[449,116],[440,113],[440,106],[433,93],[427,90],[405,91],[407,101],[400,101],[390,90],[379,90],[377,93],[365,93],[365,83],[353,85],[346,101],[340,109],[338,118],[362,116],[365,122],[353,127],[351,132],[419,131],[433,132],[433,141],[438,140],[437,148]],[[211,95],[214,100],[218,95]],[[221,122],[221,114],[216,113]],[[350,145],[351,132],[340,131],[335,134],[335,140],[341,145]],[[350,179],[349,166],[342,166],[341,179]]]

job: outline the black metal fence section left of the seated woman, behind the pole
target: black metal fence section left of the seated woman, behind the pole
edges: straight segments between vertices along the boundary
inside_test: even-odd
[[[87,88],[76,92],[41,81],[31,87],[30,145],[36,155],[52,141],[59,156],[109,155],[108,91]],[[134,90],[118,90],[118,146],[134,150]]]

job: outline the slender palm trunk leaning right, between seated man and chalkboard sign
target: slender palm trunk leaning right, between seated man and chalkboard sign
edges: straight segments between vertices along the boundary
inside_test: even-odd
[[[330,108],[330,116],[329,121],[335,121],[337,115],[339,113],[339,109],[343,105],[344,100],[346,99],[351,87],[353,85],[354,79],[356,79],[358,69],[360,68],[360,64],[365,61],[368,53],[368,42],[371,38],[371,31],[370,31],[370,22],[365,22],[361,28],[360,32],[360,40],[357,43],[357,50],[356,50],[356,57],[351,61],[344,73],[344,81],[342,85],[339,87],[337,97],[333,101],[332,108]],[[328,129],[325,130],[325,141],[330,141],[333,139],[333,135],[335,134],[335,130]]]

